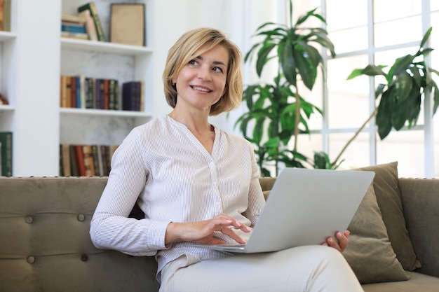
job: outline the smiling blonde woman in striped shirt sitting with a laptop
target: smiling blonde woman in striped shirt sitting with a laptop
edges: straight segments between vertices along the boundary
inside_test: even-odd
[[[170,48],[163,83],[173,111],[133,129],[114,153],[93,243],[155,256],[163,292],[363,291],[341,254],[349,232],[262,254],[189,246],[245,243],[264,207],[252,146],[208,123],[240,104],[241,61],[216,29],[194,29]],[[142,220],[127,218],[136,202]]]

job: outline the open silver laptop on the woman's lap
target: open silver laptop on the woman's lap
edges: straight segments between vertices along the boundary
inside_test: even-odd
[[[192,245],[259,253],[322,244],[348,228],[373,177],[374,172],[285,168],[246,244]]]

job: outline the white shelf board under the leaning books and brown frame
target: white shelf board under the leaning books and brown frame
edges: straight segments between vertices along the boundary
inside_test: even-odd
[[[61,48],[68,50],[83,50],[102,53],[114,53],[120,55],[144,55],[152,53],[151,48],[141,46],[129,46],[121,43],[109,43],[104,41],[88,41],[81,39],[61,38]]]

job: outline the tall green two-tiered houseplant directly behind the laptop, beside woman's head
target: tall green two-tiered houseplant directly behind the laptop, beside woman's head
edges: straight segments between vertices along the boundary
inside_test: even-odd
[[[256,58],[257,76],[262,75],[266,64],[277,62],[277,74],[272,83],[248,85],[243,92],[243,102],[248,112],[236,121],[243,136],[255,144],[259,167],[264,176],[271,173],[266,162],[273,162],[278,171],[279,162],[285,166],[304,167],[304,163],[316,168],[328,168],[331,164],[325,153],[315,153],[307,158],[299,153],[297,137],[310,133],[308,120],[313,113],[322,114],[317,106],[306,102],[299,92],[300,84],[309,90],[316,83],[318,67],[323,69],[319,47],[327,48],[335,56],[334,45],[322,27],[306,27],[304,23],[315,18],[325,24],[325,18],[316,9],[292,20],[292,1],[289,1],[290,24],[266,22],[255,32],[263,37],[245,55],[245,62]],[[316,48],[316,46],[318,48]],[[289,148],[294,137],[294,146]]]

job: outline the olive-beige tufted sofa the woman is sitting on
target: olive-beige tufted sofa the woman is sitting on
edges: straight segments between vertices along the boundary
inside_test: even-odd
[[[262,179],[262,186],[271,188],[273,180]],[[439,180],[400,181],[403,197],[419,197],[405,206],[413,208],[410,220],[427,212],[419,209],[426,204],[435,210],[428,214],[432,225],[419,230],[425,240],[414,244],[423,266],[408,281],[367,284],[365,291],[439,291]],[[90,218],[106,183],[106,177],[0,177],[1,292],[158,291],[154,258],[90,242]]]

